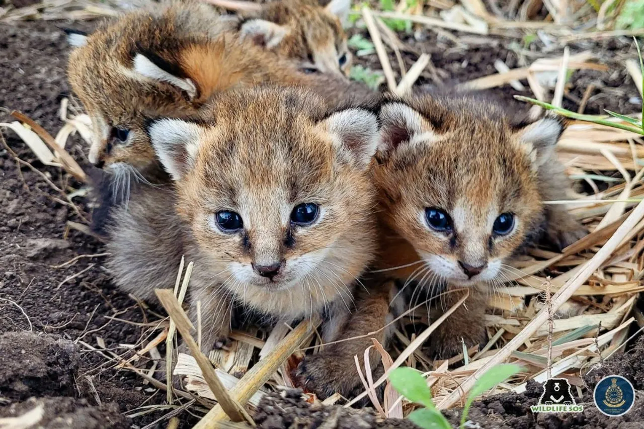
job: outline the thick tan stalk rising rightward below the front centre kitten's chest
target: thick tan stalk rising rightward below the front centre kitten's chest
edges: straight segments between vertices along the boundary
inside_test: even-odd
[[[278,347],[256,363],[242,377],[240,382],[231,389],[230,394],[234,401],[245,404],[319,324],[319,319],[305,320],[299,323],[296,329],[290,331],[289,335],[279,343]],[[220,422],[225,419],[226,414],[223,412],[222,406],[216,405],[199,423],[194,425],[193,429],[213,429],[218,427]]]

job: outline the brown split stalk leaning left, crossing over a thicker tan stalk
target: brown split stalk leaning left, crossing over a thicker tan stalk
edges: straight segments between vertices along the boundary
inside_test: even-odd
[[[211,364],[205,354],[199,350],[196,341],[194,341],[190,334],[190,330],[194,328],[193,324],[190,322],[190,319],[188,319],[188,316],[186,316],[184,309],[181,308],[174,292],[171,289],[155,289],[155,294],[161,305],[166,309],[167,314],[175,322],[176,329],[180,332],[186,345],[190,349],[190,353],[197,361],[199,368],[201,368],[202,374],[204,374],[204,379],[210,390],[212,390],[214,397],[217,398],[217,402],[221,408],[225,410],[225,413],[232,421],[247,421],[252,424],[252,426],[255,426],[254,421],[252,421],[251,416],[246,412],[246,410],[244,410],[243,407],[234,401],[234,399],[232,399],[228,394],[222,381],[219,379],[216,372],[214,372],[213,364]],[[171,374],[167,374],[167,377],[171,377]]]

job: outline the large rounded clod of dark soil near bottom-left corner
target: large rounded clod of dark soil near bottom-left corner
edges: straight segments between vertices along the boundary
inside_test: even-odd
[[[71,341],[31,332],[0,336],[0,397],[74,396],[79,356]]]

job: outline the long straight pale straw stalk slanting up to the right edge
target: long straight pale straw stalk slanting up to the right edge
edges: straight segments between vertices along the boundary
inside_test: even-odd
[[[602,263],[605,262],[605,260],[611,256],[612,252],[621,243],[621,240],[630,233],[633,227],[635,227],[642,218],[644,218],[644,200],[636,205],[629,217],[623,224],[621,224],[617,231],[615,231],[615,234],[613,234],[610,240],[601,247],[600,251],[598,251],[591,260],[582,265],[582,269],[576,274],[576,276],[567,281],[564,286],[554,294],[552,300],[553,312],[556,312],[556,310],[558,310],[565,301],[569,300],[569,298],[573,296],[574,292],[583,285],[586,280],[588,280],[588,278],[601,266]],[[466,379],[466,381],[460,385],[460,389],[454,390],[450,395],[443,399],[438,405],[438,408],[440,410],[445,410],[457,403],[461,395],[465,396],[482,374],[485,374],[489,368],[502,363],[510,357],[512,352],[520,347],[526,339],[529,339],[539,327],[544,325],[547,319],[548,309],[547,307],[544,307],[519,334],[508,341],[501,350],[498,350],[497,354],[495,354],[492,359],[486,362],[482,367],[478,368],[474,374]]]

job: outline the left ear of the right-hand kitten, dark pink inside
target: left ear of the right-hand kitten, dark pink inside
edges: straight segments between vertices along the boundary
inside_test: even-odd
[[[420,113],[402,102],[388,102],[380,108],[379,153],[386,155],[401,145],[412,146],[435,140],[437,135]]]

